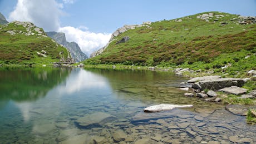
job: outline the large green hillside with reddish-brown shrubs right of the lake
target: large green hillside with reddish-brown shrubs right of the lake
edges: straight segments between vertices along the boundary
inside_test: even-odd
[[[256,24],[239,24],[242,19],[234,14],[208,13],[213,13],[209,22],[196,18],[205,14],[199,13],[130,29],[117,36],[100,56],[84,63],[180,66],[215,71],[231,65],[226,69],[229,75],[256,69]],[[116,44],[125,36],[130,40]]]

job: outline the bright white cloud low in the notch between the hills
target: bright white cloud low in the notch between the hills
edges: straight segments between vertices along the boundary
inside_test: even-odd
[[[70,26],[60,27],[58,32],[65,33],[67,41],[78,43],[81,51],[88,56],[90,56],[93,51],[104,47],[111,37],[110,33],[93,33]]]

